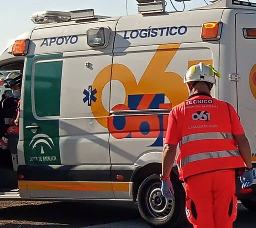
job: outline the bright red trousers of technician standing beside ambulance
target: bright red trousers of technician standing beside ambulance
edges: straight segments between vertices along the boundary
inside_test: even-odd
[[[237,215],[235,188],[234,170],[188,177],[186,214],[194,228],[232,228]]]

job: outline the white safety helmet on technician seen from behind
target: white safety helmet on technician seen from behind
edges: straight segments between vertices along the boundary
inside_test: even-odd
[[[184,77],[184,84],[190,81],[204,81],[216,85],[215,76],[220,78],[221,74],[215,70],[213,66],[205,65],[203,62],[200,62],[199,64],[189,67]]]

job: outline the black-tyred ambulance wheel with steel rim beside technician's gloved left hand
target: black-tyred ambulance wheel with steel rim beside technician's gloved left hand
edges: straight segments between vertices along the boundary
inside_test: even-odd
[[[185,191],[175,174],[171,175],[174,200],[166,200],[161,193],[159,174],[147,177],[138,190],[138,209],[152,227],[177,227],[185,220]]]

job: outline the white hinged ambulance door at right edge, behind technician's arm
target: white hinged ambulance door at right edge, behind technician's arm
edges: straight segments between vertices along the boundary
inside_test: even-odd
[[[236,22],[236,72],[238,112],[256,162],[256,13],[238,13]]]

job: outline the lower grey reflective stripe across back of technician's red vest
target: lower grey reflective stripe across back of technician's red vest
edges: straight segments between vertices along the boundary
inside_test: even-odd
[[[180,167],[183,167],[184,165],[190,162],[201,161],[209,158],[226,158],[226,157],[237,157],[237,156],[240,156],[240,152],[238,150],[199,153],[199,154],[194,154],[194,155],[187,156],[186,158],[183,158],[180,162]]]

